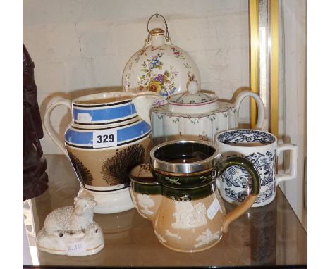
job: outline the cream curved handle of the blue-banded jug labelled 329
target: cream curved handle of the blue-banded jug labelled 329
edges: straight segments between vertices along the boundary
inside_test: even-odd
[[[54,130],[53,125],[51,125],[51,112],[56,108],[56,106],[64,105],[67,106],[71,111],[71,101],[68,99],[63,99],[59,101],[55,101],[52,103],[49,108],[47,108],[47,111],[44,113],[44,129],[46,130],[47,134],[51,138],[51,140],[54,141],[56,146],[63,151],[64,154],[68,157],[68,153],[66,152],[66,148],[63,144],[63,141],[59,138],[59,134],[57,134]]]

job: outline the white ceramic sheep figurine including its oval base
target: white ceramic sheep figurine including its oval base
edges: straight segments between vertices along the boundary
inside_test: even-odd
[[[37,234],[38,248],[51,254],[85,256],[104,247],[101,227],[93,220],[97,202],[91,196],[78,196],[74,206],[57,208],[44,220]]]

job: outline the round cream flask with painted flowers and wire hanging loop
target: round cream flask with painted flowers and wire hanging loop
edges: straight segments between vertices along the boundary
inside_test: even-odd
[[[149,21],[154,16],[164,18],[154,14]],[[171,44],[165,18],[166,31],[161,28],[149,30],[149,21],[145,46],[130,57],[123,70],[123,91],[152,91],[162,97],[185,92],[188,80],[200,82],[197,65],[183,49]]]

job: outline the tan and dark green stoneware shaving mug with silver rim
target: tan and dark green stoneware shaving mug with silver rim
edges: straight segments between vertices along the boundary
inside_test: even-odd
[[[249,171],[252,191],[226,215],[215,179],[232,165]],[[259,175],[252,163],[243,157],[224,159],[209,142],[176,140],[155,146],[150,166],[153,177],[146,165],[130,173],[133,202],[143,217],[152,220],[159,242],[175,251],[197,252],[214,246],[259,192]]]

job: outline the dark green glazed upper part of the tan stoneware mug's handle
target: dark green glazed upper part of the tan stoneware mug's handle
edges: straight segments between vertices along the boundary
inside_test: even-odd
[[[224,161],[220,161],[218,163],[218,177],[224,173],[224,170],[226,170],[228,167],[238,165],[243,167],[247,172],[251,175],[252,178],[252,189],[250,194],[251,195],[257,195],[259,194],[260,189],[260,177],[259,173],[255,169],[255,166],[247,160],[247,158],[243,158],[240,156],[232,156],[226,158]]]

